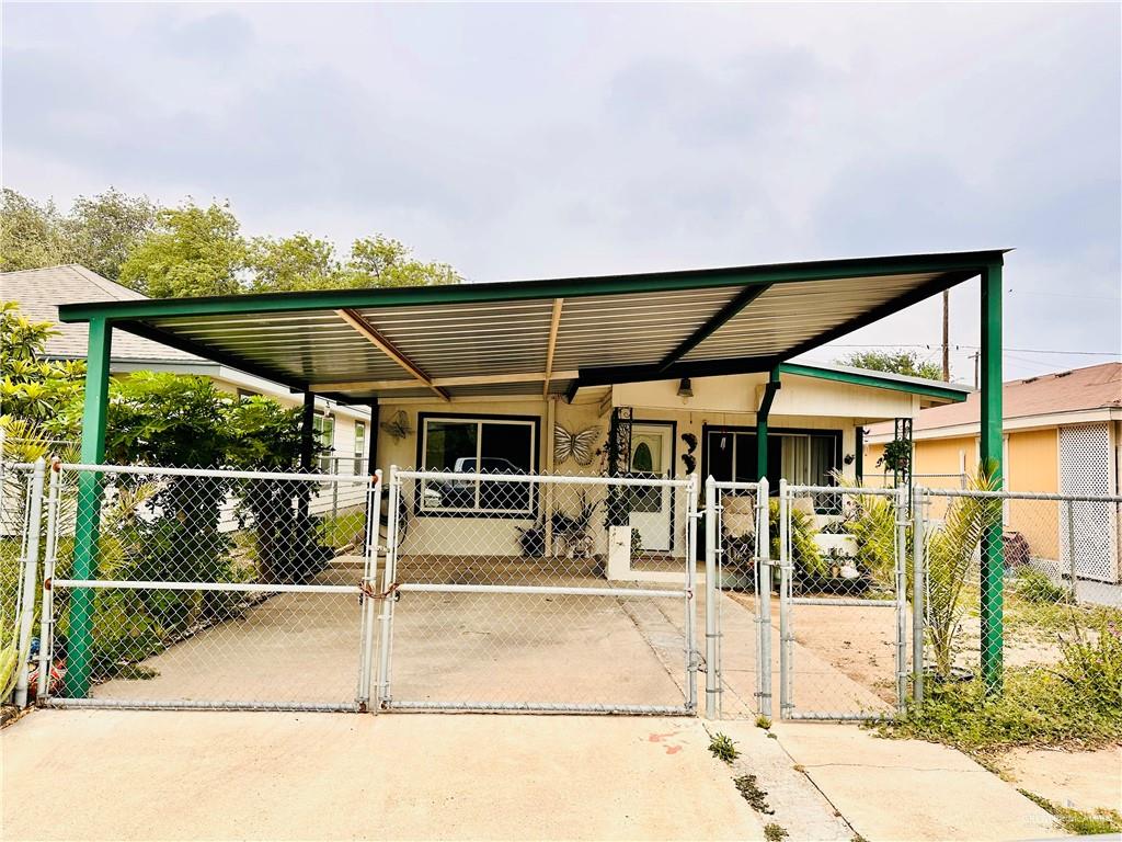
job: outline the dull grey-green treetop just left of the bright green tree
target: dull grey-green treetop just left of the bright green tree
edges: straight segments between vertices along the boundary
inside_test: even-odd
[[[61,225],[66,263],[116,281],[129,253],[155,229],[158,213],[147,196],[126,195],[114,187],[80,195]]]

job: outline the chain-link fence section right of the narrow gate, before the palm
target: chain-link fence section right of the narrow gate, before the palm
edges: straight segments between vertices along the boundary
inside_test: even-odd
[[[1120,505],[1118,496],[917,493],[923,674],[945,684],[985,677],[992,665],[1052,666],[1065,639],[1122,620]]]

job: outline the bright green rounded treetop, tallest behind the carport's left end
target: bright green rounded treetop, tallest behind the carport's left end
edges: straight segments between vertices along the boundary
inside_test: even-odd
[[[229,204],[188,201],[157,213],[155,230],[129,251],[120,282],[153,298],[232,295],[245,292],[248,256]]]

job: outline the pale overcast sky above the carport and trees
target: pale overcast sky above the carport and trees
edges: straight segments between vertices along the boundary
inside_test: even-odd
[[[228,199],[471,281],[1011,247],[1006,375],[1120,358],[1116,3],[2,13],[2,177],[36,199]],[[843,344],[939,335],[929,302]]]

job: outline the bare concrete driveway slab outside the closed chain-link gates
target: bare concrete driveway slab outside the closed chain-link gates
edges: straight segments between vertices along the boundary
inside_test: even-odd
[[[38,711],[4,840],[763,839],[688,719]]]

